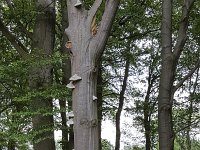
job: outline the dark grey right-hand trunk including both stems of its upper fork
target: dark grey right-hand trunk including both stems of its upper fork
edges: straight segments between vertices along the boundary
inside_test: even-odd
[[[162,63],[158,101],[160,150],[174,149],[172,103],[177,88],[174,88],[173,84],[175,80],[176,66],[186,42],[189,12],[193,3],[194,0],[184,1],[178,37],[174,50],[172,50],[172,1],[162,0]]]

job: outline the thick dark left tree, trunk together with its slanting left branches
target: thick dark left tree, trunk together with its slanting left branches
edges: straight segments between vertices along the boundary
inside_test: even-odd
[[[15,13],[17,12],[15,5],[20,5],[20,3],[7,0],[6,4],[11,11],[11,14],[15,16]],[[49,59],[52,56],[54,49],[55,3],[52,0],[41,0],[34,2],[28,1],[27,5],[29,6],[31,4],[35,6],[34,8],[37,12],[37,15],[34,15],[36,18],[34,19],[35,22],[33,33],[27,30],[21,21],[17,19],[14,21],[20,26],[20,31],[25,34],[25,37],[23,37],[25,40],[21,40],[15,36],[15,33],[12,33],[9,30],[10,27],[5,26],[1,19],[0,31],[2,31],[3,35],[16,49],[18,55],[20,55],[21,60],[34,60],[34,62],[41,62],[43,59]],[[31,41],[31,46],[28,45],[30,43],[27,44],[25,42],[27,39]],[[42,91],[47,89],[47,87],[52,85],[52,65],[48,63],[46,65],[40,65],[36,63],[34,66],[33,64],[29,64],[30,68],[28,69],[30,90],[37,91],[40,89],[40,91]],[[39,96],[35,94],[30,99],[31,105],[29,108],[32,110],[32,112],[36,112],[35,114],[32,113],[31,115],[33,131],[35,132],[33,137],[33,148],[34,150],[55,150],[52,98],[50,96]],[[21,108],[23,108],[24,105],[25,102],[21,104]],[[22,109],[18,110],[18,112],[20,111],[22,111]],[[45,114],[46,112],[48,112],[48,114]],[[15,149],[16,144],[12,143],[11,147],[11,149]]]

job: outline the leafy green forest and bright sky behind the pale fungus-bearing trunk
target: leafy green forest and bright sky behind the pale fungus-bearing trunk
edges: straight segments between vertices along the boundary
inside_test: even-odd
[[[83,3],[90,10],[94,1]],[[106,4],[98,7],[92,36],[98,35]],[[121,0],[118,6],[95,66],[98,132],[104,120],[116,127],[114,145],[98,135],[100,150],[164,149],[165,138],[158,140],[164,137],[162,118],[168,120],[174,149],[200,149],[200,2],[171,5]],[[72,89],[67,88],[74,44],[65,32],[68,19],[66,0],[0,1],[0,150],[74,148]],[[162,116],[163,107],[168,115]],[[133,136],[133,128],[140,137]],[[62,131],[59,141],[54,140],[57,130]]]

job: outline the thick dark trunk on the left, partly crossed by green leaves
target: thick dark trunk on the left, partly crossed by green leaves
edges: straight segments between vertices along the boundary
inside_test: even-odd
[[[54,48],[54,1],[37,1],[36,8],[38,15],[34,28],[34,49],[32,50],[32,55],[36,56],[35,58],[38,59],[36,61],[40,61],[43,58],[51,56]],[[33,68],[30,79],[30,86],[32,89],[45,89],[51,84],[51,65]],[[43,115],[42,113],[53,111],[52,99],[36,96],[32,100],[32,110],[38,112],[38,114],[34,115],[32,118],[33,130],[38,133],[34,138],[34,150],[55,150],[53,115]]]

